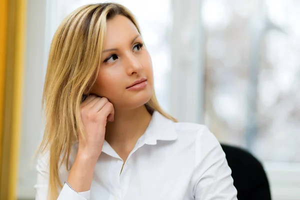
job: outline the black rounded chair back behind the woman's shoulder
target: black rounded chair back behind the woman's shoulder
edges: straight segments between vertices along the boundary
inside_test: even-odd
[[[225,152],[238,200],[270,200],[269,183],[261,163],[249,152],[221,144]]]

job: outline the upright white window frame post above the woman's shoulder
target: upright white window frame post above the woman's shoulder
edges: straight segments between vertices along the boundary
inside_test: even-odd
[[[179,121],[203,123],[203,39],[199,0],[173,0],[170,113]]]

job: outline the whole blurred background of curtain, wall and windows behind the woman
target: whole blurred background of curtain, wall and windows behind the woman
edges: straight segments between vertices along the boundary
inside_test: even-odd
[[[102,0],[0,1],[0,199],[34,199],[52,36]],[[117,0],[137,17],[162,107],[249,150],[272,199],[300,199],[300,0]]]

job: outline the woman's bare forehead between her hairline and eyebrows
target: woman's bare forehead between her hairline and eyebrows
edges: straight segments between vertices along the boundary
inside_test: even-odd
[[[138,34],[135,25],[123,15],[116,15],[106,23],[104,47],[115,47],[118,44],[131,42]]]

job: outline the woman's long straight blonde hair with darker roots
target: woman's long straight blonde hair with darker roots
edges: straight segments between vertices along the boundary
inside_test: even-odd
[[[49,153],[48,197],[56,199],[62,187],[58,170],[68,159],[71,145],[85,132],[80,118],[84,92],[90,91],[97,77],[106,21],[120,14],[132,21],[140,33],[132,13],[118,3],[81,6],[59,25],[51,42],[45,76],[42,106],[45,130],[38,152]],[[176,121],[159,106],[155,92],[145,104],[148,111],[158,111]]]

